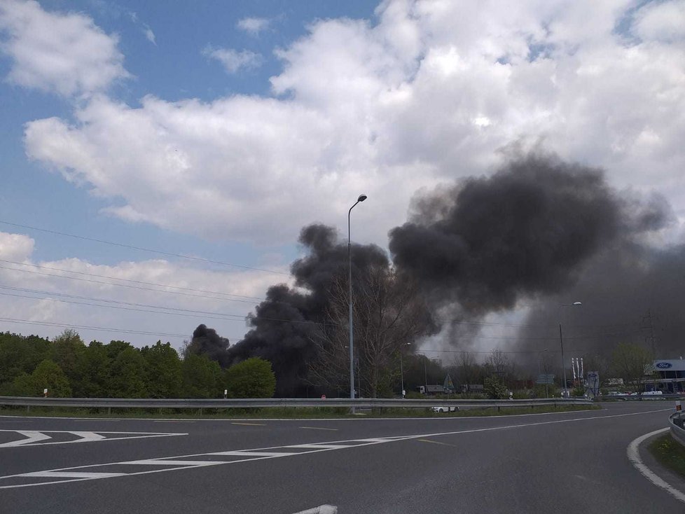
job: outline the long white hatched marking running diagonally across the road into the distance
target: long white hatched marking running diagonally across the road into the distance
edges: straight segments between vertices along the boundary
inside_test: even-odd
[[[663,409],[663,410],[672,410],[672,409]],[[247,462],[247,461],[258,461],[258,460],[265,460],[265,459],[274,459],[274,458],[279,458],[279,457],[296,457],[297,455],[309,455],[312,453],[319,453],[319,452],[333,452],[336,450],[342,450],[344,448],[359,448],[359,447],[364,447],[364,446],[371,446],[371,445],[379,445],[383,443],[392,443],[394,441],[401,441],[401,440],[411,440],[411,439],[422,439],[422,438],[431,438],[431,437],[438,437],[438,436],[454,436],[457,434],[462,434],[462,433],[476,433],[476,432],[488,432],[488,431],[495,431],[495,430],[507,430],[507,429],[518,429],[518,428],[524,428],[527,426],[542,426],[542,425],[550,425],[550,424],[558,424],[558,423],[572,423],[572,422],[581,422],[581,421],[589,421],[592,419],[611,419],[611,418],[617,418],[617,417],[627,417],[627,416],[636,416],[636,415],[642,415],[642,414],[651,414],[653,412],[661,412],[661,411],[654,411],[654,410],[648,410],[648,411],[643,411],[643,412],[628,412],[626,414],[616,414],[616,415],[609,415],[609,416],[594,416],[594,417],[576,417],[572,419],[555,419],[553,421],[548,421],[548,422],[537,422],[537,423],[524,423],[524,424],[514,424],[514,425],[506,425],[506,426],[490,426],[484,429],[469,429],[469,430],[457,430],[457,431],[450,431],[450,432],[438,432],[438,433],[420,433],[420,434],[413,434],[410,436],[391,436],[387,438],[368,438],[368,439],[348,439],[348,440],[338,440],[338,441],[328,441],[320,444],[312,444],[314,447],[309,450],[309,451],[304,451],[304,452],[295,452],[295,453],[287,453],[287,452],[275,452],[273,450],[278,450],[278,449],[284,449],[287,450],[289,447],[288,446],[272,446],[272,447],[265,447],[265,448],[253,448],[251,450],[235,450],[235,451],[227,451],[227,452],[209,452],[209,453],[202,453],[202,454],[190,454],[190,455],[178,455],[176,457],[163,457],[166,459],[177,459],[179,460],[179,467],[172,467],[169,466],[168,468],[162,468],[162,469],[154,469],[154,470],[148,470],[148,471],[134,471],[132,473],[120,473],[116,474],[116,476],[134,476],[134,475],[148,475],[151,473],[165,473],[167,471],[179,471],[181,469],[188,469],[188,468],[196,468],[198,466],[193,466],[193,464],[188,465],[187,462],[193,462],[193,461],[184,461],[183,459],[188,459],[192,457],[206,457],[209,455],[233,455],[236,457],[245,457],[244,459],[238,459],[234,461],[223,461],[223,462],[217,462],[217,466],[219,464],[240,464],[242,462]],[[337,444],[337,443],[347,443],[345,445]],[[335,446],[335,447],[333,447]],[[272,451],[268,451],[272,450]],[[151,459],[151,460],[156,460],[156,459]],[[130,462],[130,461],[129,461]],[[72,473],[72,471],[75,470],[85,470],[89,468],[102,468],[103,466],[115,466],[115,465],[125,465],[127,464],[126,461],[124,462],[107,462],[104,464],[88,464],[85,466],[75,466],[73,468],[57,468],[53,470],[46,470],[46,471],[39,471],[37,473]],[[156,463],[155,463],[156,464]],[[5,475],[5,476],[0,476],[0,483],[1,480],[6,480],[8,478],[17,478],[21,476],[27,476],[26,473],[20,474],[20,475]],[[60,484],[60,483],[65,483],[65,482],[77,482],[80,480],[97,480],[98,478],[109,478],[107,476],[93,476],[93,477],[85,477],[85,478],[69,478],[68,480],[53,480],[50,482],[34,482],[34,483],[28,483],[28,484],[15,484],[15,485],[0,485],[0,489],[13,489],[16,487],[35,487],[39,485],[53,485],[53,484]]]

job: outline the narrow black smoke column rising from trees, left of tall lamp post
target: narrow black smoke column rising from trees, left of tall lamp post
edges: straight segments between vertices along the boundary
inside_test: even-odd
[[[305,394],[307,366],[314,357],[313,323],[325,321],[328,289],[347,271],[347,244],[338,240],[335,229],[309,225],[300,232],[299,242],[306,255],[291,265],[297,289],[284,284],[270,287],[266,300],[248,319],[251,330],[229,350],[231,363],[251,356],[271,361],[277,396]],[[353,272],[373,265],[389,265],[385,251],[353,244]]]

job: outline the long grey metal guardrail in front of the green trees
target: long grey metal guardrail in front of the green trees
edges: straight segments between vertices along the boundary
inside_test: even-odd
[[[40,398],[0,396],[0,405],[20,407],[83,408],[269,408],[269,407],[354,407],[354,408],[506,408],[537,405],[592,405],[579,398],[534,398],[530,400],[410,400],[401,398],[229,398],[229,399],[147,399],[147,398]]]

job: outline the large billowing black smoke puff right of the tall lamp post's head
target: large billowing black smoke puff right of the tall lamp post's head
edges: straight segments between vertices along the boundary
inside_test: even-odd
[[[600,170],[541,155],[421,197],[415,208],[389,233],[394,264],[471,315],[569,286],[621,228]]]

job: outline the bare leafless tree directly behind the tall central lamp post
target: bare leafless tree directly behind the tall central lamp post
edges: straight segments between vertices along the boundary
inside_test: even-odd
[[[380,386],[389,383],[401,345],[425,333],[430,316],[415,284],[399,277],[392,268],[370,266],[355,277],[355,286],[354,349],[361,389],[375,398]],[[348,291],[347,277],[333,281],[325,323],[312,335],[317,359],[310,368],[310,380],[337,389],[347,389],[344,384],[350,373]]]

